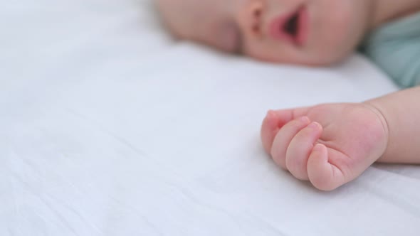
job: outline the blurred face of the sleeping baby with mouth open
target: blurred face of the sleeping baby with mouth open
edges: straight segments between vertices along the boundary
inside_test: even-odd
[[[349,55],[374,0],[157,0],[179,36],[275,63],[326,65]]]

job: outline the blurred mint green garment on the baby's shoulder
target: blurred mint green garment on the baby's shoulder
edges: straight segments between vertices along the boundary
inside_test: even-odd
[[[370,32],[362,52],[401,87],[420,85],[420,13]]]

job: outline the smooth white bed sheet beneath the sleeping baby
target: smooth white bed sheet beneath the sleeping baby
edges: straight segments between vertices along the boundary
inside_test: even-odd
[[[223,55],[146,0],[1,1],[0,26],[0,235],[420,234],[419,167],[322,193],[263,153],[267,109],[397,90],[360,55]]]

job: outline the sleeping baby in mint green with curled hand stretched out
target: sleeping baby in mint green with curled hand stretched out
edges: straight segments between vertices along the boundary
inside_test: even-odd
[[[177,37],[271,63],[330,65],[357,48],[401,87],[362,103],[269,111],[261,128],[281,168],[323,191],[372,163],[420,163],[419,0],[157,0]]]

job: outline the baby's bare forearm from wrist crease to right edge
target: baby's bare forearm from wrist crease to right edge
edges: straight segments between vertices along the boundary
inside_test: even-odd
[[[420,163],[420,87],[364,102],[384,117],[388,144],[379,162]]]

